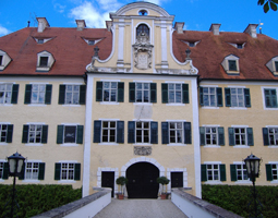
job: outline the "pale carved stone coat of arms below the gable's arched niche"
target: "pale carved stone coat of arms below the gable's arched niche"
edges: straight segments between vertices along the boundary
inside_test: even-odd
[[[150,45],[147,34],[140,33],[136,43],[132,47],[134,49],[135,68],[140,70],[150,69],[154,46]]]

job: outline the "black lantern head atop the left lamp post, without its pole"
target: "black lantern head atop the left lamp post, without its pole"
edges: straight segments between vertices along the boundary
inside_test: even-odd
[[[10,177],[20,177],[25,158],[17,152],[8,157]]]

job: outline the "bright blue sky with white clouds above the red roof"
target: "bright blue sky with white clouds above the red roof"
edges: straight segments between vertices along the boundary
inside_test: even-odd
[[[37,17],[46,17],[51,27],[75,27],[84,19],[87,27],[105,27],[109,12],[134,1],[126,0],[1,0],[0,36],[27,26],[37,26]],[[263,34],[278,39],[278,12],[264,13],[257,0],[152,0],[184,22],[184,29],[208,31],[211,23],[222,32],[243,32],[249,24],[262,25]],[[258,32],[258,28],[257,28]]]

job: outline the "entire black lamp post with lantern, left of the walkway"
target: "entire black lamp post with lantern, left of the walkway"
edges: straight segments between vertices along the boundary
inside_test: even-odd
[[[20,177],[22,173],[22,166],[25,158],[21,156],[17,152],[10,157],[8,157],[9,162],[9,175],[13,177],[13,191],[12,191],[12,207],[11,207],[11,218],[13,217],[13,205],[15,195],[15,178]]]

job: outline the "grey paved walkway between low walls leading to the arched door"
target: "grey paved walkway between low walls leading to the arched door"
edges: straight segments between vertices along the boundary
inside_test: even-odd
[[[170,199],[113,199],[94,218],[188,218]]]

